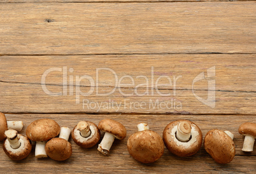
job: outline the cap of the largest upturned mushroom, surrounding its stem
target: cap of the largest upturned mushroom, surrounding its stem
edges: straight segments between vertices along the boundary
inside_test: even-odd
[[[188,140],[188,142],[180,142],[176,138],[178,124],[184,121],[190,124],[192,129],[191,138]],[[162,133],[162,138],[166,148],[176,156],[180,157],[192,156],[196,154],[201,148],[203,142],[203,135],[200,128],[189,120],[178,120],[167,124],[164,132]]]

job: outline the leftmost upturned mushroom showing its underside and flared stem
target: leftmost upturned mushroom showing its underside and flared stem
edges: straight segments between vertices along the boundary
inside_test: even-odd
[[[7,139],[4,141],[3,149],[13,161],[19,161],[29,156],[32,145],[29,138],[18,134],[16,130],[7,130],[4,133]]]

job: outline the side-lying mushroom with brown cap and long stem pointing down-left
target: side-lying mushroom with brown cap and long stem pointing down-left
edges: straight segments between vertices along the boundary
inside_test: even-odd
[[[101,141],[101,144],[99,144],[98,151],[104,155],[108,155],[115,138],[124,140],[126,137],[126,129],[123,124],[114,121],[113,119],[101,120],[98,127],[99,130],[105,132],[103,140]]]

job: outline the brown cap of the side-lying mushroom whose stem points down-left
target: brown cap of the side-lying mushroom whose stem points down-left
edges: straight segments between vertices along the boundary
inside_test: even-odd
[[[123,140],[126,137],[126,129],[123,124],[113,119],[103,119],[99,122],[99,130],[111,133],[115,138]]]

